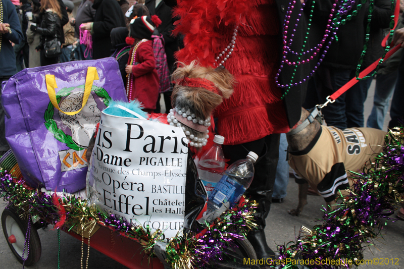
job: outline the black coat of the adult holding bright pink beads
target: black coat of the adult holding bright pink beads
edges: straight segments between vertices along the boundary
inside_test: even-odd
[[[92,8],[96,10],[92,26],[92,59],[110,57],[113,48],[111,30],[126,27],[121,7],[116,0],[95,0]]]

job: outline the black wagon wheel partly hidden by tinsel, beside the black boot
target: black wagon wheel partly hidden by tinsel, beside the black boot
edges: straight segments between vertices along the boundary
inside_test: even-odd
[[[251,264],[244,264],[244,258],[257,259],[257,254],[251,243],[247,240],[236,239],[234,241],[237,248],[223,249],[223,260],[211,262],[207,268],[211,269],[252,269],[259,268]]]

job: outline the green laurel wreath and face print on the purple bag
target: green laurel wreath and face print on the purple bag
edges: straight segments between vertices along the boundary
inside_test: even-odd
[[[72,92],[74,89],[83,89],[83,91]],[[92,86],[91,92],[94,92],[97,96],[103,98],[104,104],[108,106],[111,97],[104,88]],[[56,94],[56,98],[59,106],[63,111],[71,112],[77,111],[78,108],[81,107],[83,94],[84,85],[80,85],[77,87],[61,89]],[[66,98],[61,101],[62,97]],[[62,128],[59,128],[57,126],[56,121],[54,120],[54,113],[55,106],[52,104],[52,102],[49,102],[44,113],[46,129],[51,132],[58,141],[66,144],[66,146],[68,146],[69,148],[76,151],[85,150],[88,146],[88,142],[91,138],[94,126],[99,122],[101,113],[92,94],[90,94],[87,103],[80,113],[73,116],[59,113],[62,124],[67,126],[71,130],[72,135],[66,134]]]

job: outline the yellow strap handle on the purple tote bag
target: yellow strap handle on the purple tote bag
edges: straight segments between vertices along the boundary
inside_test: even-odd
[[[57,88],[58,85],[56,85],[55,75],[45,75],[46,88],[47,88],[47,94],[49,95],[49,100],[51,100],[52,104],[60,112],[66,114],[66,115],[69,115],[69,116],[76,115],[83,109],[84,105],[87,103],[87,99],[88,99],[88,96],[90,96],[93,81],[98,80],[98,79],[99,78],[98,78],[97,69],[95,67],[89,66],[87,68],[87,76],[85,78],[84,96],[83,96],[83,103],[81,105],[81,108],[78,111],[64,112],[59,108],[58,101],[56,100],[55,88]]]

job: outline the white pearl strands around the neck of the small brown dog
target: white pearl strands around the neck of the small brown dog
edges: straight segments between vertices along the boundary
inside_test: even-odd
[[[194,147],[203,147],[206,146],[209,138],[209,130],[206,130],[206,132],[201,133],[198,132],[182,123],[180,123],[174,116],[174,111],[177,112],[179,115],[181,115],[183,118],[187,119],[188,121],[192,121],[194,124],[199,124],[199,125],[204,125],[206,127],[211,126],[211,118],[208,118],[206,120],[200,119],[199,117],[196,117],[195,114],[191,113],[189,109],[184,108],[178,108],[176,107],[175,109],[171,109],[170,113],[167,115],[167,122],[172,125],[172,126],[177,126],[181,127],[182,130],[184,131],[186,137],[189,140],[189,145],[194,146]]]

